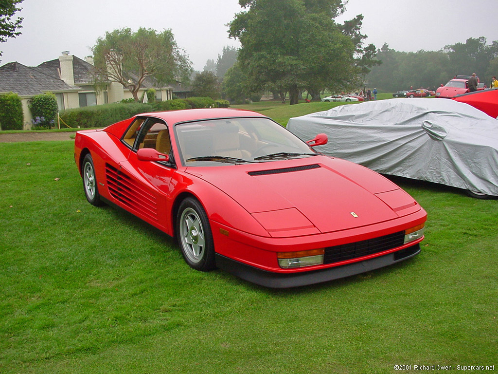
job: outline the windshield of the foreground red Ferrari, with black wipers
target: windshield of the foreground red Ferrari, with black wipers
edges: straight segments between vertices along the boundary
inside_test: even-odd
[[[318,155],[267,118],[228,118],[175,126],[186,166],[219,166]]]

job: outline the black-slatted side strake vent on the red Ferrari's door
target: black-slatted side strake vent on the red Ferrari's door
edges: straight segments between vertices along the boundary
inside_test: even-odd
[[[157,199],[122,171],[106,164],[109,193],[130,209],[157,221]]]

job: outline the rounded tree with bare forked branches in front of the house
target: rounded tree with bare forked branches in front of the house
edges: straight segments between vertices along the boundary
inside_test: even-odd
[[[192,71],[192,62],[176,44],[171,30],[158,33],[143,27],[136,32],[116,29],[97,39],[92,50],[96,88],[109,81],[121,83],[135,101],[147,77],[158,84],[175,79],[185,82]]]

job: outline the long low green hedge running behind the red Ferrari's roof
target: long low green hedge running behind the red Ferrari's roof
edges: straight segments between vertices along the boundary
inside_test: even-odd
[[[220,101],[220,103],[218,103]],[[106,127],[123,121],[139,113],[162,112],[193,108],[227,108],[226,100],[216,102],[209,97],[190,97],[188,99],[173,99],[155,103],[115,103],[93,107],[68,109],[60,113],[61,119],[73,128]]]

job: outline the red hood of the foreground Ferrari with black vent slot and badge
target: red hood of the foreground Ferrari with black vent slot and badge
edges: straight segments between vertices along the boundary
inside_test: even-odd
[[[304,235],[366,226],[420,208],[384,177],[326,156],[187,172],[232,197],[272,236],[289,230]]]

